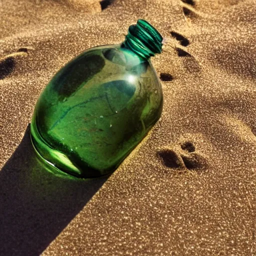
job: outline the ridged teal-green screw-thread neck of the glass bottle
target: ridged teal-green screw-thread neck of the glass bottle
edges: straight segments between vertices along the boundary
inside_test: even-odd
[[[162,51],[162,36],[147,21],[138,19],[135,25],[130,25],[125,40],[121,44],[143,59],[154,56]]]

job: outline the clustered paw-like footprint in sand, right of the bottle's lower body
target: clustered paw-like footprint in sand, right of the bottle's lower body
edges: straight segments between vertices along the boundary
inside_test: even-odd
[[[208,166],[207,158],[196,150],[191,140],[159,149],[157,155],[162,164],[178,170],[203,170]]]

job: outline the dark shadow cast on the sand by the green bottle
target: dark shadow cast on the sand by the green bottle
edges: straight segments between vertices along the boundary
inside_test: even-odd
[[[0,171],[0,255],[39,255],[108,177],[79,179],[47,171],[28,125]]]

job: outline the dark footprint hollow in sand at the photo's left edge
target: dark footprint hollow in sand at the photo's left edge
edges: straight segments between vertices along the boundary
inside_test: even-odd
[[[20,47],[16,52],[0,58],[0,80],[8,76],[15,68],[15,59],[19,56],[25,56],[31,47]]]

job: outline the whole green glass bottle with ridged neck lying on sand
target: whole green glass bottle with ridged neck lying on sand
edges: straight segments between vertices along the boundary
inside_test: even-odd
[[[161,46],[159,32],[139,19],[122,43],[92,47],[61,68],[31,121],[42,159],[81,177],[116,169],[161,115],[161,84],[150,61]]]

